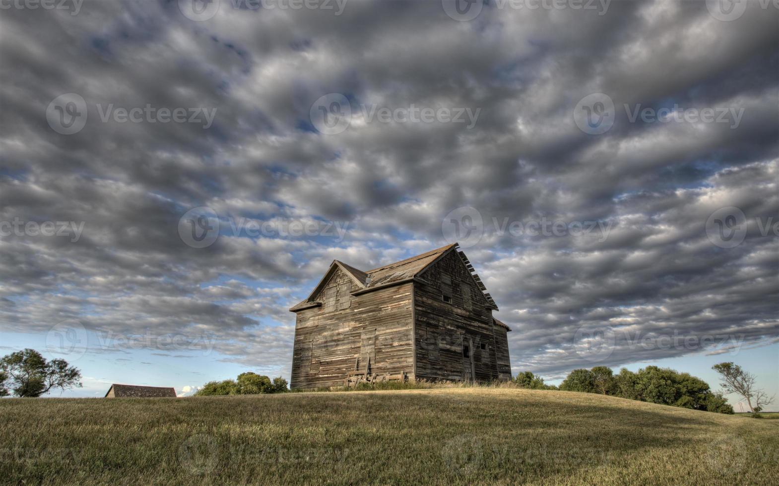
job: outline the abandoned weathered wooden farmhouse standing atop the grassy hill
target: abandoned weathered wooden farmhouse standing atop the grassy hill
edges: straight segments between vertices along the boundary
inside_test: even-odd
[[[368,271],[333,261],[296,314],[290,386],[511,379],[511,329],[448,245]]]

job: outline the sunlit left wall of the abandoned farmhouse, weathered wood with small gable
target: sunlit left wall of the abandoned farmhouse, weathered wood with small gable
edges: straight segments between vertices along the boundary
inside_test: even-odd
[[[340,386],[367,368],[413,378],[411,284],[351,295],[358,285],[343,270],[330,276],[316,300],[297,312],[291,388]]]

